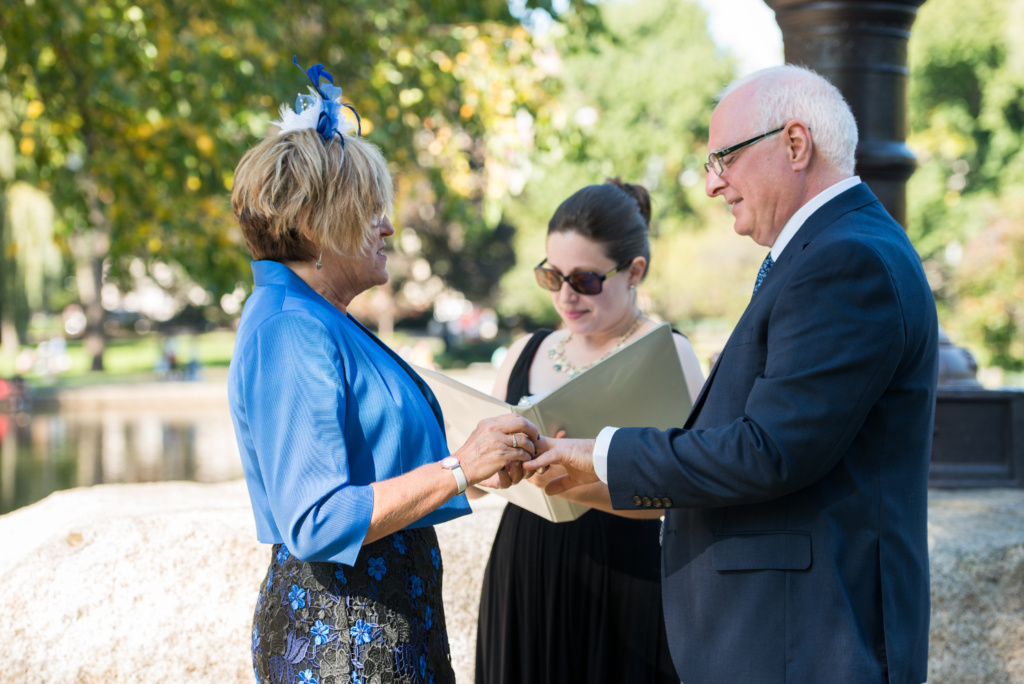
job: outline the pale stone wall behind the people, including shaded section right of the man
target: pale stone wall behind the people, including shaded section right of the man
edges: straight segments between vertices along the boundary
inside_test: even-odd
[[[437,527],[459,681],[502,510]],[[931,684],[1024,682],[1024,491],[933,491]],[[102,485],[0,516],[0,680],[252,682],[267,549],[242,482]]]

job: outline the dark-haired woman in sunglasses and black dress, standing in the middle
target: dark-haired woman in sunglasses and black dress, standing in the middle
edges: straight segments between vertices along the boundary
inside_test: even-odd
[[[558,207],[535,271],[562,329],[516,341],[495,396],[516,403],[550,392],[655,327],[636,299],[650,263],[649,224],[647,190],[618,179]],[[695,397],[699,364],[689,341],[674,337]],[[614,396],[608,388],[608,400]],[[552,468],[530,481],[544,486],[558,474]],[[566,496],[592,510],[554,523],[505,507],[483,578],[477,684],[678,684],[662,614],[658,513],[612,511],[600,483]]]

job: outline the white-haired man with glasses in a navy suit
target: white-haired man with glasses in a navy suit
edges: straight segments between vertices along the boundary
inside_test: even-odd
[[[684,684],[927,678],[935,303],[903,229],[853,175],[839,91],[785,66],[723,91],[707,191],[770,248],[682,428],[547,439],[527,464],[663,508]]]

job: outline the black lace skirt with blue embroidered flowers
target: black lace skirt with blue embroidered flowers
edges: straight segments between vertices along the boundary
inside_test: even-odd
[[[367,545],[351,567],[275,544],[252,650],[260,684],[455,682],[433,527]]]

